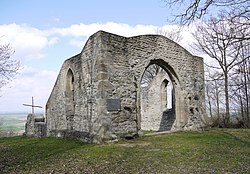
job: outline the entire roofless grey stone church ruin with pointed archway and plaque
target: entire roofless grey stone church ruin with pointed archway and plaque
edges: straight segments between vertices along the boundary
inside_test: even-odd
[[[46,105],[46,136],[103,142],[142,130],[200,130],[204,100],[202,58],[164,36],[99,31],[63,63]]]

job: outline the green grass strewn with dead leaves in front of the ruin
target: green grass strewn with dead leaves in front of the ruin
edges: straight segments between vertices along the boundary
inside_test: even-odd
[[[176,132],[102,145],[58,138],[0,138],[0,171],[250,173],[250,129]]]

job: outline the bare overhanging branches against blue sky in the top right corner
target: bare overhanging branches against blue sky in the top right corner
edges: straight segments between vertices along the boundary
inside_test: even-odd
[[[189,25],[196,19],[208,16],[211,9],[213,13],[217,10],[219,14],[250,19],[249,0],[163,0],[170,8],[183,9],[180,14],[175,14],[175,20],[182,25]],[[211,14],[210,14],[211,15]]]

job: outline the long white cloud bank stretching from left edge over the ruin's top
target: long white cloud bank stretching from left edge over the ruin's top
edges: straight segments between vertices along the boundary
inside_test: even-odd
[[[39,30],[25,24],[4,24],[0,25],[1,43],[10,43],[15,49],[15,58],[24,61],[31,59],[41,59],[46,55],[45,48],[58,43],[61,37],[69,37],[66,44],[71,44],[82,48],[86,39],[99,30],[104,30],[114,34],[131,37],[143,34],[156,34],[157,29],[165,31],[176,28],[175,25],[153,26],[153,25],[135,25],[130,26],[123,23],[92,23],[92,24],[74,24],[64,28],[48,28]],[[180,42],[187,48],[187,42],[190,41],[191,34],[186,28],[182,30],[184,39]]]

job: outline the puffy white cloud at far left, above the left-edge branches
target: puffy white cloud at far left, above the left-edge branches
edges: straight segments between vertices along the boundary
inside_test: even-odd
[[[15,50],[14,57],[22,60],[40,59],[44,57],[43,49],[55,44],[56,37],[50,38],[42,30],[27,25],[0,25],[1,44],[10,44]]]

